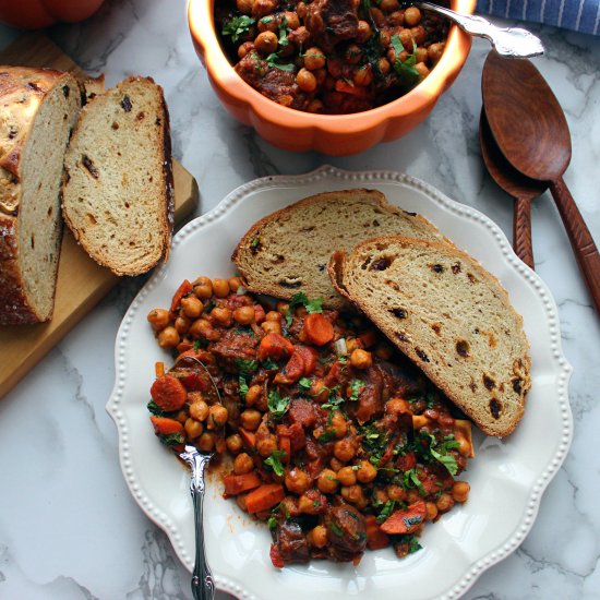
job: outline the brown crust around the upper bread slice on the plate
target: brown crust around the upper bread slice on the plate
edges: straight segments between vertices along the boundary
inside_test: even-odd
[[[419,356],[419,352],[417,351],[417,346],[415,345],[415,340],[411,338],[409,328],[399,332],[391,327],[383,317],[383,311],[385,310],[383,305],[377,305],[377,308],[375,309],[365,301],[364,296],[360,293],[359,290],[349,289],[349,284],[350,287],[352,287],[349,276],[349,262],[360,256],[364,251],[368,251],[369,247],[373,248],[375,244],[381,244],[382,249],[387,248],[391,244],[406,244],[410,248],[421,247],[423,249],[437,251],[440,253],[447,254],[452,252],[453,257],[469,264],[470,268],[477,272],[478,276],[485,279],[488,284],[494,288],[494,291],[500,293],[503,303],[506,305],[509,314],[516,322],[516,326],[519,331],[520,336],[519,346],[521,348],[521,355],[515,359],[515,362],[520,362],[520,364],[518,364],[518,367],[515,367],[514,363],[513,367],[514,369],[516,369],[515,375],[518,374],[520,382],[520,404],[518,406],[518,409],[512,416],[511,420],[508,420],[507,422],[503,421],[502,423],[494,422],[491,418],[489,420],[483,420],[481,418],[481,413],[483,411],[480,410],[480,407],[473,407],[469,403],[467,403],[461,395],[463,393],[459,389],[455,389],[453,386],[448,385],[447,381],[445,381],[435,372],[432,363],[423,360],[422,356]],[[361,260],[364,260],[363,255]],[[355,304],[355,307],[357,307],[358,310],[363,312],[371,321],[373,321],[373,323],[404,355],[406,355],[419,369],[421,369],[423,373],[456,406],[458,406],[476,422],[481,431],[483,431],[488,435],[506,436],[515,430],[519,420],[523,417],[526,396],[531,385],[531,359],[528,351],[529,343],[523,329],[523,316],[513,309],[508,298],[508,293],[500,284],[500,281],[492,274],[490,274],[478,261],[469,256],[467,253],[456,249],[455,247],[448,248],[445,244],[436,242],[427,242],[423,240],[389,236],[367,240],[365,242],[358,244],[349,256],[343,252],[334,253],[328,265],[328,273],[332,278],[332,283],[337,291],[349,299]],[[399,333],[401,333],[403,335],[398,335]],[[485,399],[488,399],[488,397]]]

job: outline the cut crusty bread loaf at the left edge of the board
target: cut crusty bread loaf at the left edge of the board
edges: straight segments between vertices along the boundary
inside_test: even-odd
[[[62,220],[60,180],[81,108],[79,83],[0,67],[0,324],[50,319]]]

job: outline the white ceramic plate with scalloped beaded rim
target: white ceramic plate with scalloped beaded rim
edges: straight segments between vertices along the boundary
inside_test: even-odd
[[[244,517],[235,502],[223,500],[218,482],[211,481],[205,502],[208,562],[217,587],[238,598],[458,598],[523,541],[571,443],[571,368],[561,351],[554,301],[488,217],[396,172],[323,167],[300,177],[259,179],[231,192],[176,236],[168,264],[137,295],[116,343],[117,381],[107,410],[119,430],[123,475],[136,502],[168,533],[185,566],[192,569],[194,555],[189,477],[156,440],[148,421],[154,363],[166,356],[146,314],[168,307],[184,278],[233,274],[231,251],[260,217],[311,194],[358,187],[376,188],[392,203],[424,215],[506,287],[531,345],[532,387],[525,417],[505,441],[476,437],[477,458],[465,476],[471,484],[469,501],[427,527],[423,550],[403,561],[385,549],[367,552],[357,567],[315,561],[276,569],[268,555],[267,528]]]

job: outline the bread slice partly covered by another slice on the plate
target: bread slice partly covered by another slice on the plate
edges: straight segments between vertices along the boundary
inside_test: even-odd
[[[345,301],[327,275],[332,253],[388,235],[444,240],[428,220],[393,206],[381,192],[345,190],[307,197],[264,217],[240,240],[231,260],[254,292],[289,300],[302,291],[340,309]]]

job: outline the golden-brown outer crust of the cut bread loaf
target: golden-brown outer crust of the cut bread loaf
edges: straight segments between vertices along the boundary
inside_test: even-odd
[[[9,132],[1,140],[0,167],[0,324],[24,325],[48,320],[39,314],[25,293],[19,265],[19,214],[21,205],[21,161],[37,110],[27,110],[59,85],[79,83],[69,73],[52,69],[0,67],[0,119]],[[65,94],[70,93],[71,87]],[[55,289],[56,292],[56,289]],[[53,301],[52,301],[53,304]]]

